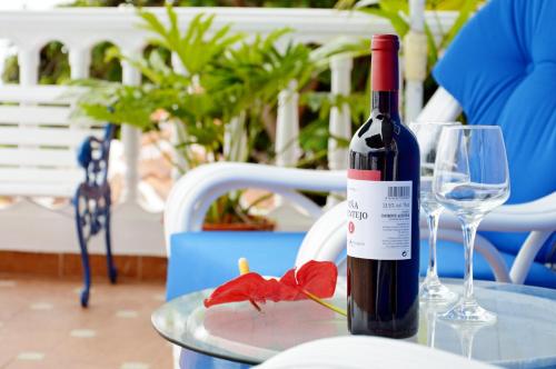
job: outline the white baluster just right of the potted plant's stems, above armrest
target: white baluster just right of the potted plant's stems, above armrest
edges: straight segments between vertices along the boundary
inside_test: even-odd
[[[287,89],[278,94],[278,112],[276,118],[276,164],[294,167],[299,159],[299,93],[297,81],[289,82]]]

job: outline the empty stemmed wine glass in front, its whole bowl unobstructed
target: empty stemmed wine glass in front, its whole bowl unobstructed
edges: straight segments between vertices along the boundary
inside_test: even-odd
[[[461,223],[465,247],[464,295],[440,318],[459,322],[495,322],[473,293],[473,247],[480,220],[509,197],[509,174],[502,130],[497,126],[443,128],[433,191]]]

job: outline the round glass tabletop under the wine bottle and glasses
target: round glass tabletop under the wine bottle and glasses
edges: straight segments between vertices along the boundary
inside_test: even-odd
[[[461,293],[460,281],[446,285]],[[165,303],[151,317],[157,331],[183,348],[251,365],[302,342],[349,335],[345,317],[314,301],[267,302],[262,312],[248,302],[206,309],[211,291]],[[504,367],[556,366],[556,290],[477,281],[475,293],[497,313],[495,325],[450,325],[437,318],[447,307],[421,305],[419,331],[407,340]],[[346,306],[345,279],[330,301]]]

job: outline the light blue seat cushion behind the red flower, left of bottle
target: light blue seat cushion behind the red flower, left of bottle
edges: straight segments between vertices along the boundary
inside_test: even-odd
[[[238,259],[251,270],[281,276],[296,262],[304,232],[187,232],[171,237],[167,299],[216,287],[238,276]]]

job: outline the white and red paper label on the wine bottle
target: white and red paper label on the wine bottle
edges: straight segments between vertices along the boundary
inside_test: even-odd
[[[378,170],[348,170],[348,256],[411,259],[411,181],[380,181]]]

